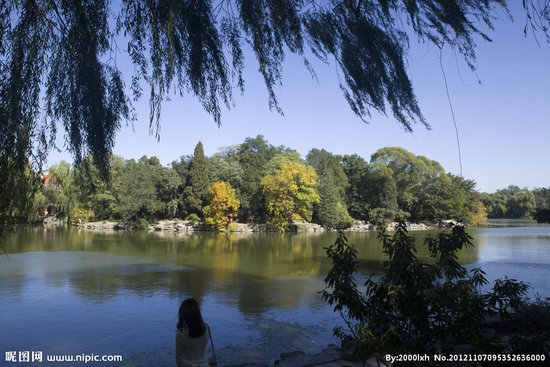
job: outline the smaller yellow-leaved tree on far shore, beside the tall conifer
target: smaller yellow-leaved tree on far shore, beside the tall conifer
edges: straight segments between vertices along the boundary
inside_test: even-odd
[[[237,217],[241,204],[235,190],[230,184],[218,181],[210,186],[207,200],[208,205],[203,209],[206,223],[216,227],[218,231],[227,231]]]

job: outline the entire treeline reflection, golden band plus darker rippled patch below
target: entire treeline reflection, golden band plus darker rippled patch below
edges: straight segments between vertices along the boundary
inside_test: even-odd
[[[359,250],[361,272],[380,271],[386,259],[376,233],[349,233],[348,236]],[[419,241],[423,236],[417,236]],[[107,301],[122,292],[140,297],[165,292],[174,298],[192,296],[198,300],[212,293],[237,305],[245,314],[258,314],[277,307],[295,307],[297,305],[288,302],[315,297],[313,291],[300,286],[300,276],[327,273],[330,264],[324,247],[335,238],[334,232],[157,236],[143,232],[25,227],[11,236],[6,247],[8,252],[78,253],[78,256],[61,258],[78,262],[63,265],[65,270],[52,274],[44,271],[49,284],[69,283],[77,294],[93,301]],[[418,250],[419,257],[427,256],[426,249]],[[54,253],[48,256],[57,258]],[[103,256],[106,260],[101,263]],[[461,262],[475,261],[477,249],[469,249],[459,256]],[[24,281],[22,278],[21,282]],[[15,288],[12,285],[13,289],[23,287],[24,284]]]

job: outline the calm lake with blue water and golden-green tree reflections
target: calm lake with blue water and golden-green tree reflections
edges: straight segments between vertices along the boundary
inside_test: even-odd
[[[434,232],[416,232],[421,239]],[[527,281],[550,296],[550,225],[491,221],[470,229],[460,253],[490,280]],[[385,260],[376,233],[348,233],[364,276]],[[0,256],[0,361],[7,352],[108,355],[173,366],[181,300],[196,298],[221,364],[272,363],[282,352],[320,352],[342,321],[318,292],[336,234],[98,233],[18,227]],[[420,257],[427,252],[419,249]],[[23,356],[24,357],[24,356]],[[2,364],[0,363],[0,364]],[[33,363],[30,363],[33,365]],[[44,365],[35,363],[35,365]]]

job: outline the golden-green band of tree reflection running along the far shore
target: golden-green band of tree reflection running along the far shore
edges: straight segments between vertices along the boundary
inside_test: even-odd
[[[430,234],[417,233],[420,258],[428,257],[421,243]],[[386,260],[376,233],[348,233],[350,242],[359,252],[360,269],[366,274],[378,272]],[[24,227],[12,235],[6,244],[10,253],[21,252],[85,252],[107,253],[115,256],[133,256],[140,261],[173,266],[216,269],[216,276],[227,277],[225,271],[253,276],[278,278],[284,276],[324,275],[330,264],[324,247],[334,242],[336,233],[321,234],[230,234],[195,233],[97,233],[58,227]],[[477,260],[477,249],[459,254],[462,263]],[[81,266],[90,264],[83,256]],[[125,264],[126,269],[130,264]],[[94,277],[88,269],[88,277]],[[106,274],[123,272],[96,267],[93,271]],[[151,273],[151,271],[145,271]],[[164,272],[157,274],[162,276]],[[154,277],[154,274],[151,275]],[[214,276],[214,275],[209,275]],[[120,284],[116,278],[113,284]]]

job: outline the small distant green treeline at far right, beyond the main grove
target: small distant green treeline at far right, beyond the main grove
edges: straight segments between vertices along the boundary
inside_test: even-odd
[[[521,189],[510,185],[481,194],[489,218],[523,218],[550,222],[550,188]]]

